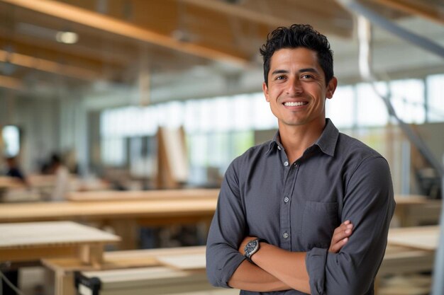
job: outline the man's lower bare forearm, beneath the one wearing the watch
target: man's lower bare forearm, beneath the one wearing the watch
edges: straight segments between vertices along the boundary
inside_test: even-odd
[[[289,290],[287,284],[279,281],[272,274],[262,270],[262,268],[253,265],[244,260],[228,281],[228,285],[235,289],[243,289],[248,291],[283,291]]]

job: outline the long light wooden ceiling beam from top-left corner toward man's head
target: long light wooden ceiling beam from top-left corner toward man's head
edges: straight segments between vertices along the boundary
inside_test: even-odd
[[[15,6],[27,8],[39,13],[44,13],[56,18],[62,18],[67,21],[87,25],[91,28],[96,28],[109,33],[131,37],[135,40],[153,43],[162,47],[167,47],[172,50],[192,54],[206,59],[213,59],[223,62],[231,62],[233,64],[240,64],[245,66],[248,64],[248,59],[237,56],[213,48],[196,45],[191,42],[180,42],[169,35],[162,35],[153,30],[142,28],[125,21],[104,16],[94,11],[88,11],[84,8],[64,4],[62,2],[50,0],[0,0]]]

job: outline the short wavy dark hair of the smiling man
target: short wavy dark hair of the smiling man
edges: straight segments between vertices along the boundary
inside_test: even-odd
[[[260,48],[264,58],[264,79],[268,86],[270,60],[275,51],[282,48],[305,47],[316,52],[318,62],[324,74],[326,83],[333,78],[333,51],[327,37],[314,30],[311,25],[291,25],[289,28],[279,27],[268,34],[267,42]]]

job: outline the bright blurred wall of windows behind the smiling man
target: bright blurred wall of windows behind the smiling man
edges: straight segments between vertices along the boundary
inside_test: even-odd
[[[339,129],[372,139],[366,143],[381,149],[381,135],[374,138],[368,130],[379,130],[391,121],[375,91],[389,96],[404,122],[444,121],[443,74],[374,86],[339,86],[333,99],[327,100],[326,116]],[[152,136],[158,127],[181,126],[187,134],[192,178],[199,182],[205,180],[202,169],[212,168],[222,174],[235,156],[253,145],[255,130],[277,129],[277,121],[262,93],[106,110],[101,114],[102,161],[107,166],[123,166],[128,162],[126,139]]]

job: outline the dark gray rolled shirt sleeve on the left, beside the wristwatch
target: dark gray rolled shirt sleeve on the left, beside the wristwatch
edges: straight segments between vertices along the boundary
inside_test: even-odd
[[[229,288],[229,279],[245,260],[238,252],[245,236],[245,214],[234,167],[232,163],[226,171],[206,241],[206,274],[216,287]]]

